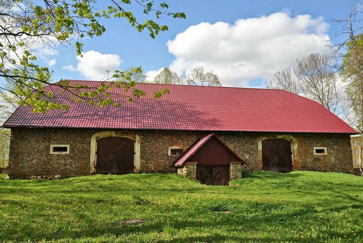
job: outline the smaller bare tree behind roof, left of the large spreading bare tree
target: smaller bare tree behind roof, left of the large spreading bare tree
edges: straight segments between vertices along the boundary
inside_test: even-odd
[[[301,85],[298,79],[294,75],[290,67],[285,68],[282,71],[276,72],[275,77],[269,81],[267,88],[269,89],[285,89],[291,93],[299,95],[301,91]]]

